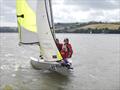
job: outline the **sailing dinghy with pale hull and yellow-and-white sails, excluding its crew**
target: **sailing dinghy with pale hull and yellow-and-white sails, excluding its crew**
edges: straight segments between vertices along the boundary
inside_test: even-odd
[[[39,58],[31,57],[35,69],[51,70],[63,75],[71,69],[62,66],[62,56],[55,43],[51,0],[17,0],[20,44],[40,47]]]

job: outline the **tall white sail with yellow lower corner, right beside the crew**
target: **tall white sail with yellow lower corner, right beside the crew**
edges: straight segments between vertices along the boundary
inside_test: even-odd
[[[37,30],[42,54],[45,61],[58,61],[62,59],[60,52],[55,44],[51,31],[52,19],[50,19],[49,0],[37,0]],[[50,6],[50,5],[49,5]]]

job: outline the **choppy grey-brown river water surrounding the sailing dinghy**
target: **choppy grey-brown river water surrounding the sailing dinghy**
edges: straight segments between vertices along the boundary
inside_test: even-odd
[[[73,46],[68,76],[35,70],[36,46],[19,46],[18,34],[0,33],[0,90],[120,90],[119,34],[57,34]]]

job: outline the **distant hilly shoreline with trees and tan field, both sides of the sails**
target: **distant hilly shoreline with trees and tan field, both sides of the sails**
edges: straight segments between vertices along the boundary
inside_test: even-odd
[[[18,32],[17,27],[0,27],[0,32]],[[56,33],[114,33],[120,34],[120,22],[56,23]]]

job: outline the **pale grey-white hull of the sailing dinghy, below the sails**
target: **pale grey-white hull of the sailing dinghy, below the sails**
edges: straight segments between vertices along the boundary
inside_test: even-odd
[[[31,65],[33,68],[38,70],[50,70],[62,75],[69,75],[72,71],[66,66],[61,66],[61,64],[58,62],[45,62],[36,58],[31,58]]]

